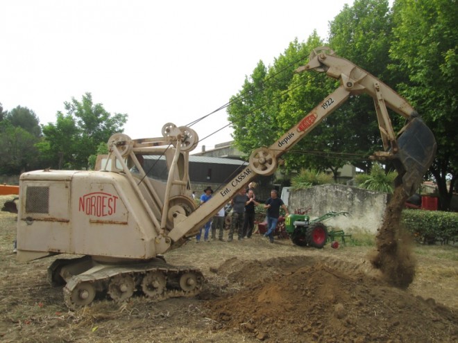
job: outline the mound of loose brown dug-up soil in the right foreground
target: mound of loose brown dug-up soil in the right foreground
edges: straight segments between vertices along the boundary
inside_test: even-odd
[[[243,289],[207,302],[214,329],[269,342],[455,342],[458,316],[352,266],[314,258],[253,261],[219,275]],[[353,272],[350,272],[353,270]]]

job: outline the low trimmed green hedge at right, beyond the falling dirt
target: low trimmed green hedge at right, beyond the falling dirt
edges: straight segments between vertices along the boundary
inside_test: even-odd
[[[455,212],[405,209],[402,211],[402,223],[424,243],[458,240],[458,213]]]

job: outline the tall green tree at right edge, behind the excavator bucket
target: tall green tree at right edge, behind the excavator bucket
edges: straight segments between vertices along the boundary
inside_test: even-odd
[[[430,172],[440,206],[450,209],[458,179],[458,4],[456,0],[396,0],[391,69],[405,76],[405,96],[434,132],[437,155]],[[447,188],[447,181],[450,187]]]

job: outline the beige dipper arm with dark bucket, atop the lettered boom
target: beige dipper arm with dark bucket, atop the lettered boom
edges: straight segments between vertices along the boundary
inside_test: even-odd
[[[436,140],[430,128],[423,123],[407,100],[367,71],[335,56],[327,47],[314,49],[309,63],[300,67],[298,72],[304,70],[325,72],[340,81],[339,89],[345,89],[350,94],[366,93],[373,97],[384,146],[384,151],[375,152],[373,159],[391,159],[398,170],[396,183],[402,184],[407,195],[413,195],[434,160]],[[335,107],[339,105],[341,103],[337,103]],[[393,132],[387,107],[407,119],[407,124],[397,136]]]

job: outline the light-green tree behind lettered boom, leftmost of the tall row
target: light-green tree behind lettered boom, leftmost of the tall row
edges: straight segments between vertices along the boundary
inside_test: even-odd
[[[297,39],[269,68],[261,61],[246,78],[241,91],[231,98],[228,118],[234,127],[237,147],[243,152],[251,152],[260,146],[271,146],[275,139],[285,134],[301,118],[314,108],[329,93],[333,82],[318,73],[300,73],[294,71],[304,65],[312,49],[322,46],[323,42],[314,32],[307,42]],[[333,125],[328,126],[333,127]],[[324,124],[326,126],[326,124]],[[338,150],[339,139],[330,139],[317,127],[306,139],[298,143],[296,152],[287,152],[285,171],[299,170],[303,166],[321,170],[337,168],[344,161],[323,155],[323,152]],[[321,151],[304,155],[298,151]]]

